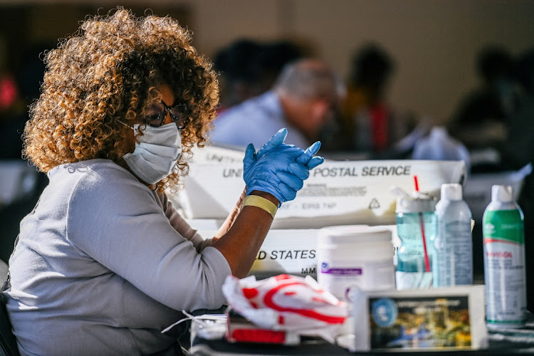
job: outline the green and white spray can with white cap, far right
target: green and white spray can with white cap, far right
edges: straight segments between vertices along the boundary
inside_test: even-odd
[[[483,239],[488,328],[520,328],[526,317],[525,236],[510,186],[492,187]]]

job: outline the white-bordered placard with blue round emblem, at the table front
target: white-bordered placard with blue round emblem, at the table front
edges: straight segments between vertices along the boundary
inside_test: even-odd
[[[484,286],[352,290],[354,351],[472,350],[487,346]]]

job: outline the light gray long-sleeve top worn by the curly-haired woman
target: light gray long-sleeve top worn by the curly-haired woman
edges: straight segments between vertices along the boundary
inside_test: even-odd
[[[178,310],[224,303],[226,259],[165,194],[108,159],[48,177],[21,221],[4,292],[21,354],[150,354],[176,342],[160,331]]]

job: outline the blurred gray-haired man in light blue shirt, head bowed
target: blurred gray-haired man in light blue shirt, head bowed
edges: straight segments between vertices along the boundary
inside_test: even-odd
[[[248,142],[258,145],[287,127],[287,142],[307,147],[319,140],[323,129],[334,120],[339,111],[340,95],[339,80],[323,61],[303,58],[288,63],[271,90],[216,118],[211,143],[238,147]]]

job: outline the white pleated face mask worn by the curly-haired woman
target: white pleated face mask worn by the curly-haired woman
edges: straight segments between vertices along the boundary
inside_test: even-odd
[[[135,135],[138,127],[133,127]],[[122,156],[137,177],[156,184],[172,173],[182,155],[182,137],[174,122],[159,127],[147,125],[137,141],[134,152]]]

